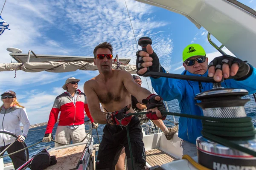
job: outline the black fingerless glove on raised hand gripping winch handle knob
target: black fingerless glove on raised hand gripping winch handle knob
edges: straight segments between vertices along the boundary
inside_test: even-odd
[[[144,62],[143,61],[143,57],[141,57],[139,55],[139,52],[141,50],[137,51],[136,52],[136,56],[137,56],[137,59],[136,59],[136,68],[137,68],[137,74],[138,74],[138,71],[144,67],[141,66],[141,64]],[[149,57],[151,57],[153,60],[152,60],[152,65],[149,67],[149,70],[150,71],[153,71],[153,72],[163,72],[163,68],[161,67],[160,65],[160,62],[159,62],[159,58],[157,57],[157,54],[155,52],[153,52],[152,54],[149,55]],[[138,74],[140,76],[143,76],[143,74]],[[158,79],[159,77],[157,76],[152,76],[154,79]]]

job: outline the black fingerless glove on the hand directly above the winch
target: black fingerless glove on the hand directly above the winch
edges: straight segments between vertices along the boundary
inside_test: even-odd
[[[249,77],[253,73],[253,68],[251,68],[251,66],[246,62],[247,61],[242,61],[241,59],[232,57],[230,55],[223,55],[213,59],[209,63],[208,68],[214,65],[215,70],[217,69],[222,70],[222,65],[224,63],[228,64],[230,68],[231,68],[231,65],[233,65],[234,63],[237,63],[239,65],[239,70],[237,71],[235,76],[230,76],[229,79],[244,80],[244,79],[247,79],[247,77]]]

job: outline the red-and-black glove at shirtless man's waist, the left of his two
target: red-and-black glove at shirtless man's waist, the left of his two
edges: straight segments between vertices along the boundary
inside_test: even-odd
[[[129,109],[130,108],[125,106],[120,111],[108,113],[106,116],[107,123],[113,125],[127,126],[131,121],[131,116],[128,116],[128,114],[126,113],[127,111],[129,111]]]

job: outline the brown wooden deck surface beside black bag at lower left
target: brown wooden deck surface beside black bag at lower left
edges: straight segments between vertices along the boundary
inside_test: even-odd
[[[79,163],[86,144],[52,150],[50,156],[55,155],[57,164],[47,167],[46,170],[74,170]]]

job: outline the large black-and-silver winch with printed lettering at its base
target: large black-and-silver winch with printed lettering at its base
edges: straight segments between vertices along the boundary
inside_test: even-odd
[[[244,105],[250,99],[241,99],[241,96],[247,94],[248,91],[244,89],[221,88],[220,85],[215,84],[212,90],[197,94],[195,99],[201,100],[201,103],[197,103],[197,105],[202,108],[204,116],[243,119],[246,117]],[[210,123],[210,126],[207,123]],[[254,128],[253,125],[243,125],[242,123],[233,125],[205,120],[203,131],[204,129],[215,130],[215,136],[256,151],[255,136],[243,135],[247,130]],[[244,128],[244,131],[236,131],[238,128]],[[202,134],[204,135],[204,133]],[[204,136],[197,138],[196,145],[198,163],[205,167],[213,170],[256,170],[256,157],[247,153],[212,142]]]

